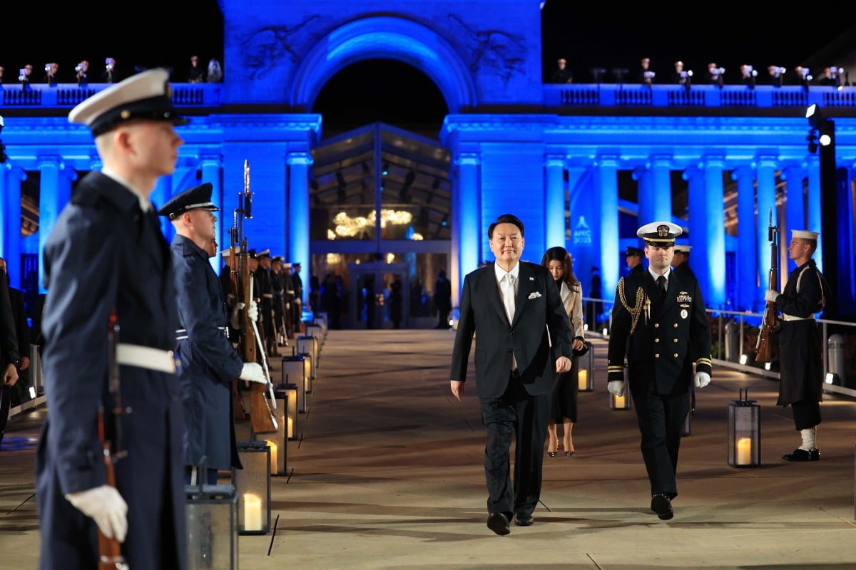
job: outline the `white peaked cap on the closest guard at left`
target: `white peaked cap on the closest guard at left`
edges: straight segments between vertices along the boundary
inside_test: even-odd
[[[166,69],[136,73],[87,98],[68,114],[68,122],[89,126],[95,137],[133,119],[187,125],[187,119],[179,117],[172,105],[172,88]]]

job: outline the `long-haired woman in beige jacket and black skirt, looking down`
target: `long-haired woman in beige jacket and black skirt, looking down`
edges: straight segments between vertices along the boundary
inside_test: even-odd
[[[574,264],[568,251],[563,247],[551,247],[544,252],[541,265],[550,271],[556,286],[562,295],[562,303],[570,320],[571,332],[574,335],[574,353],[586,347],[583,337],[583,290],[579,279],[574,275]],[[575,455],[574,441],[571,432],[577,420],[577,370],[579,357],[574,356],[573,366],[566,373],[556,374],[551,399],[550,422],[547,424],[548,443],[547,456],[555,457],[559,450],[558,424],[562,424],[562,449],[565,455]]]

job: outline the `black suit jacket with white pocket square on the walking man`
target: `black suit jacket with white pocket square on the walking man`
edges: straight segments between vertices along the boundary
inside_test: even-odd
[[[573,356],[568,314],[550,273],[540,265],[520,261],[518,277],[514,321],[510,325],[494,264],[479,267],[464,278],[451,379],[466,381],[470,349],[473,337],[477,336],[475,366],[479,397],[501,397],[505,392],[512,351],[520,379],[533,396],[552,389],[556,359]]]

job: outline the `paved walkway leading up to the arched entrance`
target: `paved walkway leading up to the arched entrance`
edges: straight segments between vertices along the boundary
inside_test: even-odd
[[[454,334],[330,332],[288,476],[272,481],[274,529],[239,538],[242,570],[856,568],[852,398],[823,403],[821,461],[788,463],[781,455],[799,434],[775,405],[776,381],[715,367],[681,446],[675,518],[661,521],[649,510],[635,414],[609,410],[599,340],[577,455],[545,457],[535,524],[496,536],[484,524],[475,386],[463,403],[449,392]],[[757,468],[728,466],[727,408],[740,388],[761,404]],[[32,439],[44,413],[11,420],[0,452],[3,569],[38,566]]]

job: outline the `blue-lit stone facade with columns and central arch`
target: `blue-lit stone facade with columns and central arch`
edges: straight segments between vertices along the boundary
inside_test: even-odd
[[[221,244],[248,160],[250,243],[293,261],[324,255],[324,244],[309,238],[312,149],[323,136],[313,103],[343,68],[394,59],[431,78],[449,109],[437,138],[453,164],[454,301],[464,274],[490,261],[487,226],[511,211],[526,223],[529,261],[565,244],[584,291],[597,266],[607,298],[621,276],[620,252],[638,244],[636,226],[672,220],[687,230],[707,305],[758,309],[774,209],[782,242],[790,229],[835,240],[815,257],[826,273],[837,272],[841,313],[856,313],[856,87],[544,85],[537,0],[222,0],[221,8],[225,82],[174,86],[192,120],[178,129],[185,144],[175,174],[152,195],[159,204],[211,182],[223,209]],[[21,275],[21,253],[42,250],[79,173],[99,167],[90,133],[66,120],[83,95],[77,85],[3,85],[9,160],[0,165],[0,252],[13,275]],[[821,179],[820,156],[807,149],[809,103],[835,120],[835,180]],[[39,231],[21,238],[21,183],[32,173],[39,173]],[[635,199],[622,196],[627,180]],[[673,203],[679,187],[686,204]],[[834,208],[822,208],[824,192],[835,195]],[[171,226],[163,230],[171,238]],[[783,248],[780,267],[787,275]]]

